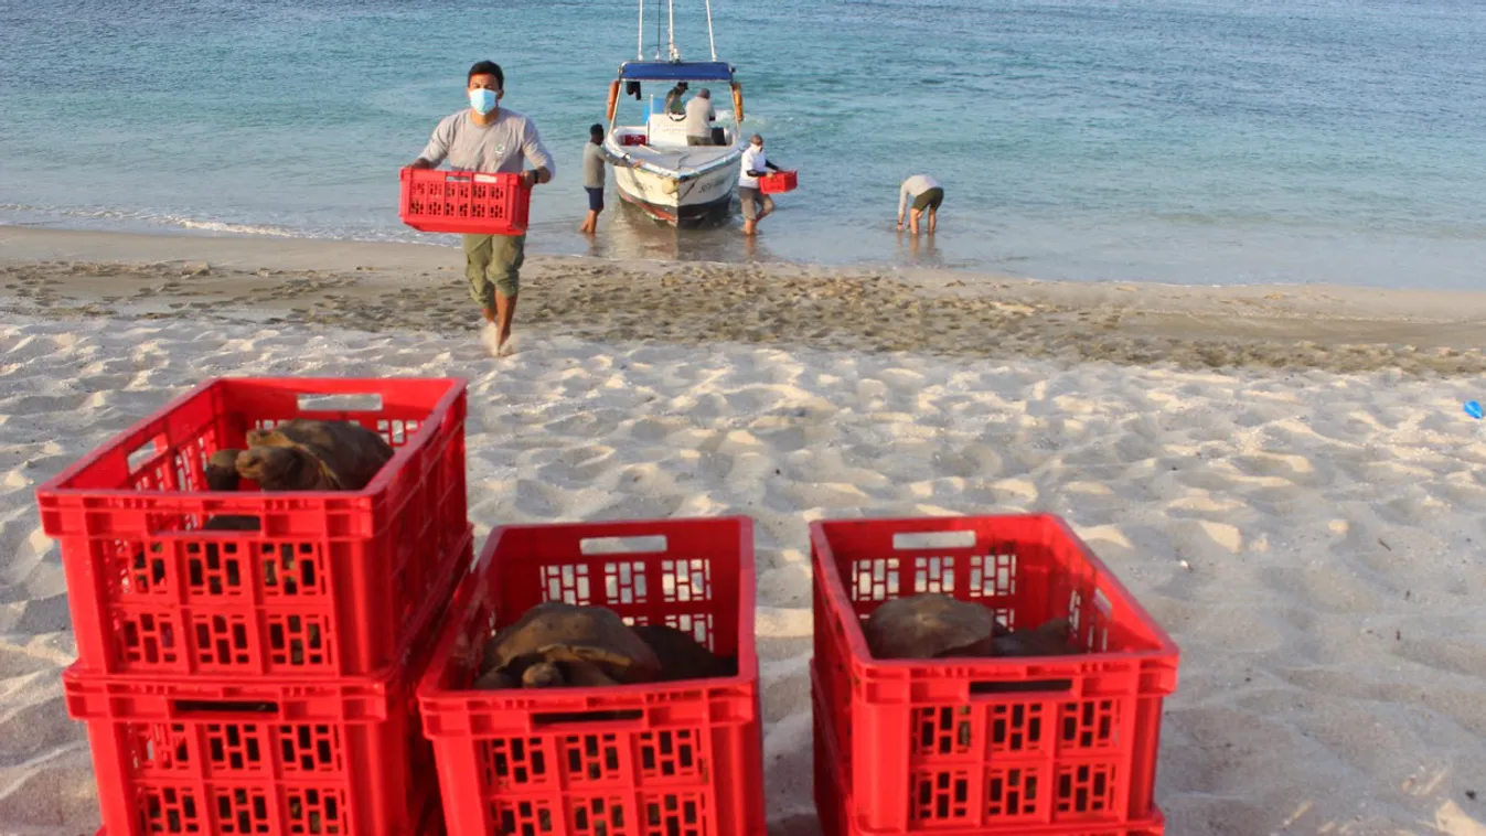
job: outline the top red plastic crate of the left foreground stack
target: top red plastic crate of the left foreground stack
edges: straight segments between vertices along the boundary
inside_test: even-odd
[[[348,396],[355,396],[352,402]],[[201,489],[248,429],[349,419],[395,456],[360,492]],[[107,674],[372,676],[389,665],[465,518],[462,380],[221,379],[37,490],[79,664]],[[215,514],[259,532],[202,532]]]

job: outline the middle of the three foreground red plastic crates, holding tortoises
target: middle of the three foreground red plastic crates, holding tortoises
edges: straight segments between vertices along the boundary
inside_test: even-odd
[[[450,836],[762,836],[752,535],[742,517],[493,530],[419,686]],[[490,630],[557,598],[691,630],[737,676],[471,690]]]

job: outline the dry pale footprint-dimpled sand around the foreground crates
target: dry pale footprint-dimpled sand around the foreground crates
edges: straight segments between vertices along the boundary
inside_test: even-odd
[[[814,833],[805,523],[1015,511],[1064,515],[1183,650],[1171,836],[1486,833],[1480,376],[569,334],[492,361],[464,333],[0,315],[0,833],[97,827],[33,490],[226,374],[468,377],[480,536],[752,515],[776,835]]]

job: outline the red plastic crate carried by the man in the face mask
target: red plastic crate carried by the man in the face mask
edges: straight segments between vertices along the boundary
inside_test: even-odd
[[[404,168],[398,214],[422,232],[526,235],[532,190],[520,174]]]

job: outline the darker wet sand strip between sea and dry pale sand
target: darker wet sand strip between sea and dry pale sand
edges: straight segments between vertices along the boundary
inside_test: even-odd
[[[532,257],[519,330],[1189,368],[1479,374],[1486,294]],[[0,227],[0,309],[473,331],[450,246]]]

